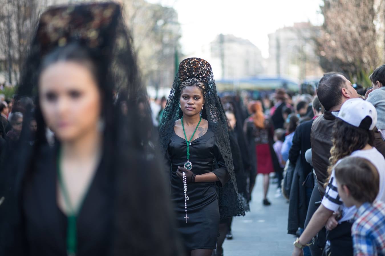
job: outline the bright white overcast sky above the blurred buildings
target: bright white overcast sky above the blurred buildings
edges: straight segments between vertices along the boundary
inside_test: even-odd
[[[322,23],[321,0],[148,0],[172,6],[182,25],[182,50],[187,55],[216,35],[233,34],[269,55],[268,34],[294,22]]]

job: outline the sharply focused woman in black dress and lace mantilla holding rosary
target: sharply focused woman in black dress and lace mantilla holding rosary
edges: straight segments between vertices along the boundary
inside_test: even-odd
[[[226,117],[210,64],[179,64],[160,127],[171,199],[187,255],[211,256],[219,220],[244,216],[238,197]]]

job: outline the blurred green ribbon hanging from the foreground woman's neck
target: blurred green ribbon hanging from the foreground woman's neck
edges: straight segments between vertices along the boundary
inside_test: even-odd
[[[77,214],[80,211],[81,206],[83,205],[85,196],[87,195],[87,192],[89,190],[90,184],[88,189],[83,195],[82,200],[80,201],[80,204],[78,206],[78,210],[76,211],[75,208],[72,206],[69,193],[67,191],[67,188],[65,187],[61,171],[60,171],[60,159],[61,154],[59,150],[59,154],[57,157],[57,179],[59,180],[59,186],[60,190],[63,193],[64,201],[65,201],[65,206],[67,206],[67,209],[69,210],[69,214],[67,214],[67,255],[68,256],[75,256],[77,252],[77,235],[76,235],[76,220],[77,220]]]

